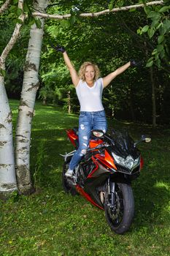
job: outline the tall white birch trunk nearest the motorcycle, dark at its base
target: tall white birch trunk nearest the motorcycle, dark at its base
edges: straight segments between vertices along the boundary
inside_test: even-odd
[[[37,0],[34,9],[45,12],[47,0]],[[41,29],[31,26],[30,39],[23,75],[23,89],[18,110],[18,123],[15,138],[15,162],[18,189],[29,194],[33,189],[30,175],[31,121],[34,114],[36,91],[39,89],[39,60],[42,48],[44,19]]]

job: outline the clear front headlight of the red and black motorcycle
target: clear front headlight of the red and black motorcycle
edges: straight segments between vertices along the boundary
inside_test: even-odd
[[[136,159],[134,159],[131,156],[123,158],[123,157],[117,156],[117,154],[115,154],[113,152],[112,152],[112,156],[114,157],[115,162],[117,162],[118,165],[128,167],[129,170],[131,170],[132,168],[134,169],[134,167],[136,167],[136,165],[139,165],[140,157],[138,157]]]

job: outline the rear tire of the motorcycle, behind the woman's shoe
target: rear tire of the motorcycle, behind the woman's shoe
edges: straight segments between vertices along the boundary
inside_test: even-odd
[[[68,180],[67,177],[65,176],[66,170],[68,170],[69,168],[69,162],[71,159],[68,159],[66,162],[63,163],[63,171],[62,171],[62,186],[63,186],[63,190],[66,193],[70,193],[71,195],[77,195],[77,191],[74,187],[72,187]]]

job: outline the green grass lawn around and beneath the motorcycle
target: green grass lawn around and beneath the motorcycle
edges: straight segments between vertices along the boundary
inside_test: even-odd
[[[18,101],[12,100],[11,108],[15,127]],[[104,211],[63,192],[59,154],[73,149],[65,130],[77,124],[77,116],[36,103],[31,133],[36,192],[0,201],[0,255],[170,255],[170,129],[153,133],[147,125],[109,120],[109,127],[128,129],[134,139],[152,135],[151,143],[139,145],[144,168],[132,184],[136,214],[129,232],[121,236],[109,229]]]

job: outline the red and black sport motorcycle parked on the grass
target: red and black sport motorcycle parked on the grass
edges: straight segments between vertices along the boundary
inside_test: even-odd
[[[75,150],[78,148],[78,129],[66,130]],[[112,130],[104,133],[92,130],[88,150],[75,167],[71,177],[65,176],[74,151],[64,157],[63,189],[72,195],[80,194],[105,211],[105,217],[112,231],[123,234],[131,227],[134,219],[134,195],[131,181],[139,176],[144,160],[136,145],[150,142],[142,135],[134,142],[128,132]]]

